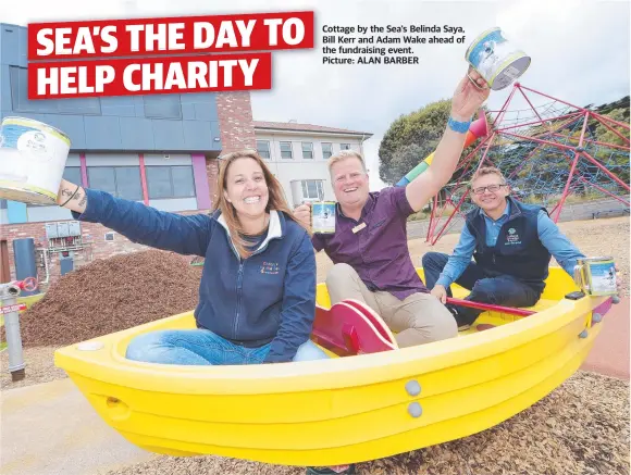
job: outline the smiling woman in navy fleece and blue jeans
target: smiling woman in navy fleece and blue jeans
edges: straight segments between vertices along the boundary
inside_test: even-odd
[[[253,151],[225,155],[212,215],[183,216],[63,180],[58,203],[158,249],[206,258],[197,329],[140,335],[126,358],[162,364],[256,364],[325,359],[310,341],[316,257],[279,180]]]

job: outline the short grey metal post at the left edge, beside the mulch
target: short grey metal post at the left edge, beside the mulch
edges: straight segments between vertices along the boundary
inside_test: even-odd
[[[24,379],[24,354],[22,351],[22,335],[20,333],[20,310],[25,305],[17,304],[21,288],[16,283],[0,284],[0,307],[4,314],[4,330],[9,351],[9,372],[14,382]],[[7,313],[4,313],[7,312]]]

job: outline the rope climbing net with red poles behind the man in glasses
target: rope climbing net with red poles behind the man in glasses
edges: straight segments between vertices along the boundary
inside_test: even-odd
[[[629,124],[519,83],[490,114],[491,134],[460,160],[453,183],[434,197],[428,242],[436,243],[472,209],[468,183],[482,166],[500,168],[514,195],[548,208],[555,223],[572,195],[582,201],[608,197],[629,212]]]

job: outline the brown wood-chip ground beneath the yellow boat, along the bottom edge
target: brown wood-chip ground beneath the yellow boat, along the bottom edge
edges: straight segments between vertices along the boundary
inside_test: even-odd
[[[579,372],[492,429],[357,468],[361,475],[628,475],[629,383]],[[300,467],[219,457],[156,457],[107,475],[304,473]]]

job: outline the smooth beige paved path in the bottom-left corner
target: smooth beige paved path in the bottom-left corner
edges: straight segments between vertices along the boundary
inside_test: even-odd
[[[153,455],[108,426],[69,379],[2,392],[2,475],[96,475]]]

